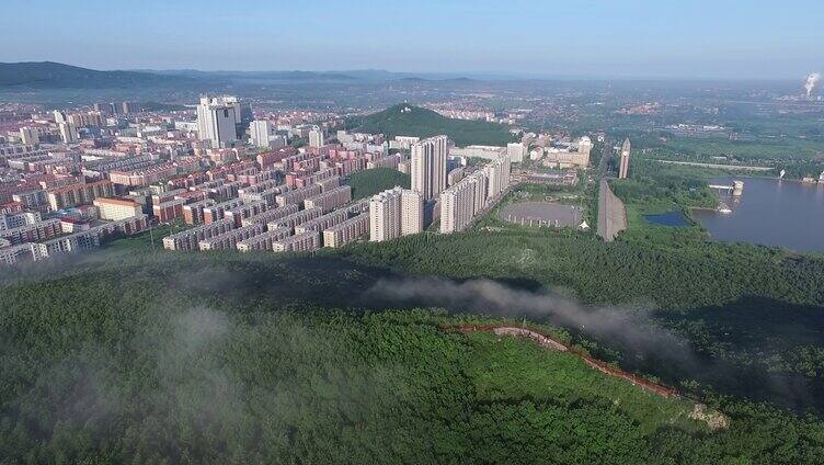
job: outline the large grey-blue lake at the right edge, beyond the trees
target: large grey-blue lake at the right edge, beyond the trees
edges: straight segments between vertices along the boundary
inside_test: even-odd
[[[695,209],[716,240],[786,247],[798,251],[824,251],[824,185],[765,178],[734,178],[744,181],[744,194],[720,199],[732,213]],[[733,178],[718,178],[712,184],[731,184]]]

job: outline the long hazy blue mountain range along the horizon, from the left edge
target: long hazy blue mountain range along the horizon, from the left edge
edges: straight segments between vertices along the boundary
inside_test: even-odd
[[[470,82],[448,73],[391,72],[379,69],[348,71],[198,71],[195,69],[136,69],[100,71],[54,61],[0,63],[0,88],[108,89],[133,86],[278,82]]]

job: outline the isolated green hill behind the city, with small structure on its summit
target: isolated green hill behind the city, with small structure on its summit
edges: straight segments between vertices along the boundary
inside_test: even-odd
[[[347,126],[353,131],[382,133],[387,137],[432,137],[446,134],[459,147],[472,144],[502,146],[513,140],[508,127],[502,124],[448,118],[432,110],[405,103],[353,118]]]

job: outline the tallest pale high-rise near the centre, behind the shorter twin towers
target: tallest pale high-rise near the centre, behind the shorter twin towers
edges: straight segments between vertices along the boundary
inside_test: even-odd
[[[412,190],[424,201],[435,199],[446,189],[446,136],[435,136],[412,145]]]

